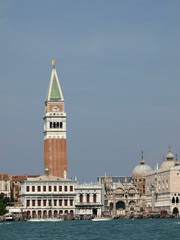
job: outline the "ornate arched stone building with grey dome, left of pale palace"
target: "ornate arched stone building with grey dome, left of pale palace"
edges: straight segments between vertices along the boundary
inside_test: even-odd
[[[143,153],[140,164],[132,172],[132,177],[98,177],[104,184],[104,214],[130,215],[145,213],[145,174],[152,171],[145,164]]]

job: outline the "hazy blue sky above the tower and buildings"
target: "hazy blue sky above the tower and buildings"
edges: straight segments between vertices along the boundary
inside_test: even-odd
[[[54,59],[68,177],[131,176],[180,158],[179,0],[1,0],[0,173],[43,174]]]

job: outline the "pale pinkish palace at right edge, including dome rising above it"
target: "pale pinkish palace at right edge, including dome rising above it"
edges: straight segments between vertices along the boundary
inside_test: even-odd
[[[174,161],[171,147],[160,169],[146,173],[146,207],[148,212],[166,211],[179,215],[180,166],[177,156]]]

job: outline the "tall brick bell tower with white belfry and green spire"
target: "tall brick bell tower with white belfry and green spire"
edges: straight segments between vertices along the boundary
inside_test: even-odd
[[[52,61],[52,73],[43,119],[44,169],[48,168],[49,174],[53,176],[66,178],[66,113],[64,112],[64,98],[55,69],[55,61]]]

